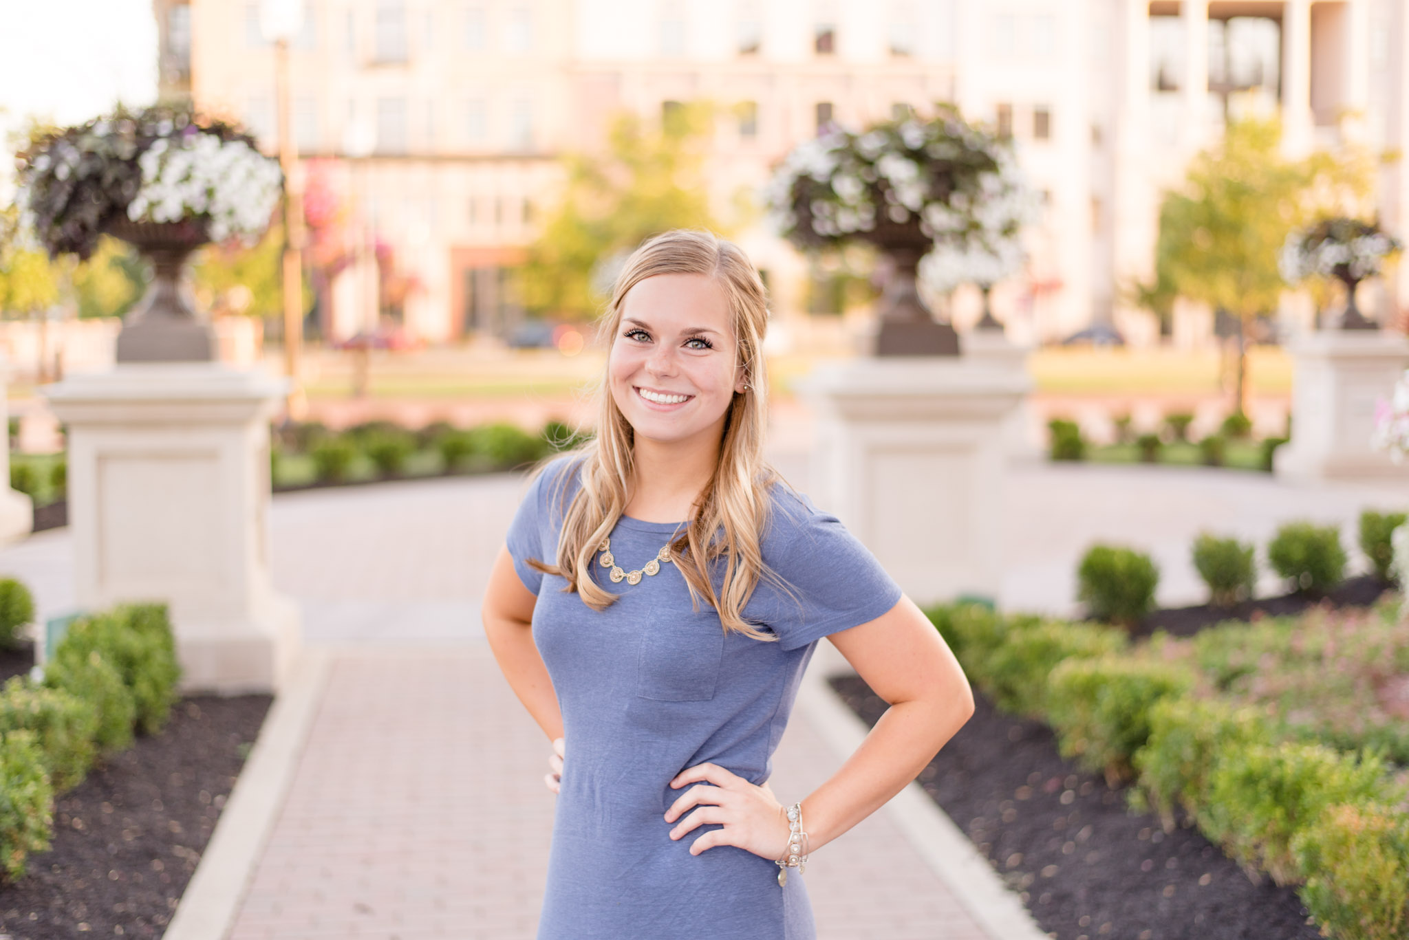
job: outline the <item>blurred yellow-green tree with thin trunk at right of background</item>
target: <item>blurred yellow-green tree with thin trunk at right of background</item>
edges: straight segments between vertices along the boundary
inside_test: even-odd
[[[1169,292],[1226,310],[1239,323],[1234,410],[1247,402],[1247,327],[1275,310],[1286,289],[1278,256],[1288,233],[1332,207],[1363,200],[1371,185],[1358,154],[1282,158],[1281,125],[1248,118],[1193,158],[1181,190],[1160,207],[1158,275],[1151,300]],[[1162,283],[1161,283],[1162,280]]]

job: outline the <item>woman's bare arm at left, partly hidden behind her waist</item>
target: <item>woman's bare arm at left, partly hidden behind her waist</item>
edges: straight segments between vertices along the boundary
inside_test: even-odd
[[[558,707],[548,667],[533,641],[533,609],[537,602],[538,598],[519,579],[509,550],[500,548],[480,606],[485,637],[514,695],[544,734],[555,740],[562,737],[562,709]]]

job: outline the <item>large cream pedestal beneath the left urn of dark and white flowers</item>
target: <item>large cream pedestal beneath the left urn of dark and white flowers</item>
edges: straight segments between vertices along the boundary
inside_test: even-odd
[[[69,426],[77,603],[170,605],[187,691],[269,692],[299,644],[269,581],[269,416],[285,382],[123,364],[41,389]]]

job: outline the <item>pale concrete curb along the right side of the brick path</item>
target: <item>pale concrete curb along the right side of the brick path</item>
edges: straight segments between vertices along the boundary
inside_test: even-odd
[[[828,675],[845,672],[855,669],[834,647],[819,644],[797,689],[797,709],[843,760],[871,730],[827,685]],[[974,843],[919,784],[912,782],[892,796],[885,810],[991,940],[1048,940],[1017,895],[993,872],[988,858],[978,854]]]

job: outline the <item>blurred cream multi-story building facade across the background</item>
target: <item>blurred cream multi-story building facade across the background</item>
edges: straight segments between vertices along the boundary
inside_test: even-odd
[[[259,3],[154,3],[166,90],[273,148]],[[709,155],[721,211],[833,121],[955,101],[1010,134],[1043,218],[995,306],[1050,340],[1093,321],[1151,331],[1126,287],[1153,268],[1160,193],[1229,116],[1279,113],[1292,155],[1409,149],[1406,52],[1409,0],[306,0],[290,80],[297,147],[358,233],[328,289],[334,335],[375,320],[387,248],[411,285],[407,328],[503,331],[506,272],[552,209],[558,156],[602,147],[621,110],[709,99],[724,106]],[[1403,161],[1384,165],[1378,200],[1405,234]],[[802,310],[802,259],[762,223],[741,241],[779,313]],[[1409,302],[1409,278],[1386,300]]]

